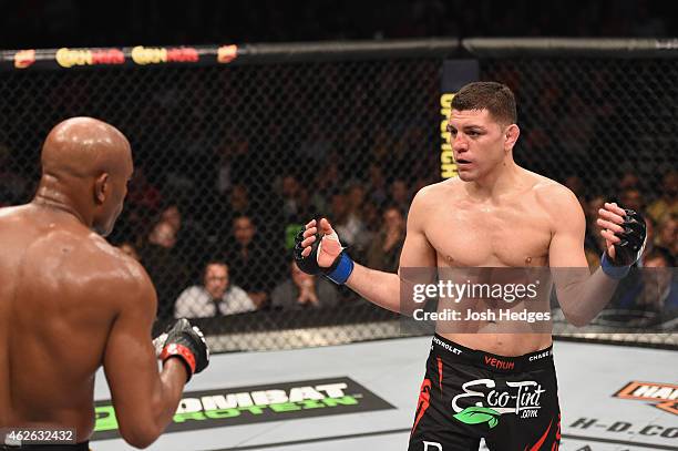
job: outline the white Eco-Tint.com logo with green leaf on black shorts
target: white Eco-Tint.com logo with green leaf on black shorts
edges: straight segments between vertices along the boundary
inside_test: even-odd
[[[490,391],[476,391],[473,388],[490,389]],[[496,388],[492,379],[476,379],[462,385],[463,393],[452,399],[452,409],[456,412],[453,417],[466,424],[487,423],[490,429],[494,428],[504,413],[514,413],[520,418],[536,418],[538,416],[540,399],[546,390],[534,380],[506,382],[505,388]],[[474,406],[463,408],[459,401],[475,401]]]

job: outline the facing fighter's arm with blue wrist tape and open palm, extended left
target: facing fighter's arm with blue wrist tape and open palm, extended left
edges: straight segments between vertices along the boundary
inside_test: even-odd
[[[400,267],[435,268],[435,253],[424,230],[424,195],[420,192],[412,201],[408,215],[405,240],[400,255]],[[320,244],[315,245],[317,236]],[[384,273],[342,258],[342,247],[337,233],[328,219],[311,221],[298,240],[297,264],[310,274],[326,274],[337,283],[343,283],[369,301],[386,309],[411,315],[415,308],[411,303],[401,303],[401,284],[407,284],[402,274]],[[314,256],[317,264],[314,265]],[[316,254],[317,253],[317,254]],[[310,256],[310,257],[309,257]],[[310,262],[309,262],[310,260]]]

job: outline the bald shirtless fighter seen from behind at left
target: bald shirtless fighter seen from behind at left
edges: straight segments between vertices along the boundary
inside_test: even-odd
[[[94,119],[70,119],[50,132],[41,161],[33,201],[0,209],[0,449],[88,450],[102,365],[122,437],[147,447],[170,423],[186,381],[207,366],[207,346],[181,319],[156,351],[153,284],[102,238],[132,176],[125,136]],[[47,428],[74,429],[76,444],[7,438],[33,430],[44,439]]]

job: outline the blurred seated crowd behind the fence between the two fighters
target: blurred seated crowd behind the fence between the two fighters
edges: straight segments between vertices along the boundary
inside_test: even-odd
[[[291,254],[295,235],[311,218],[326,216],[353,258],[396,271],[414,186],[401,178],[389,180],[377,165],[370,166],[364,181],[342,182],[338,171],[330,163],[306,183],[291,174],[280,175],[257,202],[247,184],[233,184],[209,211],[191,215],[150,184],[141,168],[112,240],[143,263],[164,315],[218,316],[352,301],[350,290],[299,271]],[[224,274],[217,277],[215,270]],[[223,283],[216,284],[215,277]],[[242,294],[245,301],[230,299]],[[187,306],[191,296],[194,306]],[[219,307],[222,303],[239,307]]]

